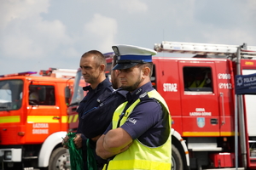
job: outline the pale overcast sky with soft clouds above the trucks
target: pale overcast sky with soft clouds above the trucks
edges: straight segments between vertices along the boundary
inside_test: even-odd
[[[78,69],[113,44],[200,42],[256,46],[255,0],[1,0],[0,75]],[[161,55],[161,54],[158,54]]]

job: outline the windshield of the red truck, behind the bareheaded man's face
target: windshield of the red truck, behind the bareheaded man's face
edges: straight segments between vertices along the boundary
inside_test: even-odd
[[[79,70],[76,74],[74,84],[73,84],[73,97],[71,99],[70,105],[79,104],[79,102],[84,98],[87,92],[84,92],[83,87],[88,86],[89,83],[84,82],[84,77]]]

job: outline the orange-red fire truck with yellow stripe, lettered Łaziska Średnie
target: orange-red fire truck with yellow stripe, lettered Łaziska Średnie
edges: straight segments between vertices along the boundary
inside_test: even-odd
[[[76,70],[49,69],[0,76],[2,169],[62,169],[67,134],[65,88]]]

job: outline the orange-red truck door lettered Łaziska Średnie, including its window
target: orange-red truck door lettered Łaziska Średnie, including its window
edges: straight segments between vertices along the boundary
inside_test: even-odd
[[[44,141],[49,134],[61,130],[61,111],[55,96],[55,84],[29,86],[27,137],[33,142]]]

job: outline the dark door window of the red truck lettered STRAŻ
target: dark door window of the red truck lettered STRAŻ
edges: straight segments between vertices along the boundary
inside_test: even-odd
[[[212,92],[210,67],[183,67],[185,92]]]

